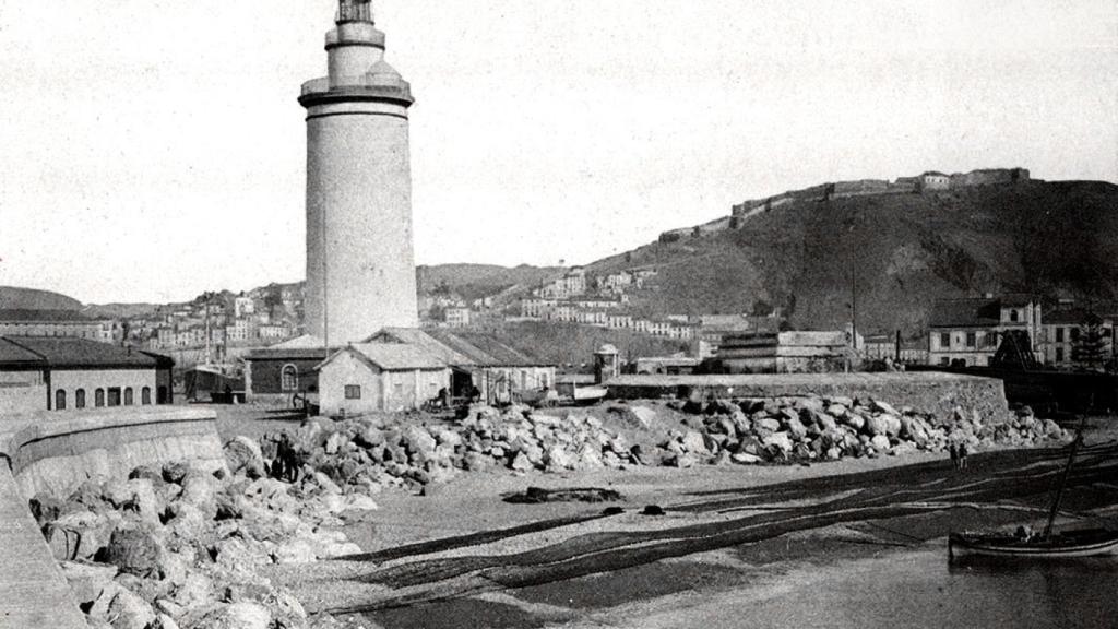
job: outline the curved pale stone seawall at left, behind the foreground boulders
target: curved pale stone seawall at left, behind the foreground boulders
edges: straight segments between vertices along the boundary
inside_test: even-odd
[[[25,498],[67,496],[94,477],[126,478],[139,466],[195,461],[225,467],[214,411],[134,406],[4,417],[7,459]]]

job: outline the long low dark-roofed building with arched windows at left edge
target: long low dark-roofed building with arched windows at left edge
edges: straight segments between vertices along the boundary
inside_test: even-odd
[[[174,362],[74,337],[0,338],[0,407],[70,411],[170,404]]]

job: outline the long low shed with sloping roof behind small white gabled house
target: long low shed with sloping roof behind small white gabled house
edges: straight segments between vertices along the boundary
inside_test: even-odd
[[[553,387],[556,366],[528,356],[482,332],[385,328],[369,342],[418,347],[451,368],[451,393],[465,397],[473,387],[489,403],[518,400],[521,393]]]

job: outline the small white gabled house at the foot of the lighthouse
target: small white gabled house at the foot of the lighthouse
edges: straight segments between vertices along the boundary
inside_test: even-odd
[[[361,342],[318,367],[319,404],[326,415],[417,409],[451,385],[451,368],[423,348]]]

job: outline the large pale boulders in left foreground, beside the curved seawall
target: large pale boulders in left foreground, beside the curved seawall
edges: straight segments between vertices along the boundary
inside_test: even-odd
[[[309,619],[258,569],[361,552],[339,528],[377,505],[322,473],[296,484],[259,476],[262,458],[243,464],[254,445],[238,438],[226,448],[238,473],[142,467],[127,480],[87,481],[66,499],[32,498],[32,514],[91,627],[332,626],[329,618]]]

